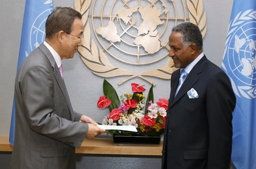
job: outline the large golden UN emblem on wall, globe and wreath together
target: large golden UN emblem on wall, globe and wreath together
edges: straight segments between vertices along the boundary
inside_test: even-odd
[[[78,50],[81,59],[98,76],[128,76],[118,84],[135,77],[153,85],[149,76],[170,79],[176,70],[168,57],[172,27],[190,21],[199,26],[203,36],[207,30],[202,0],[75,0],[75,10],[83,15],[84,23]],[[164,64],[155,67],[158,63]],[[145,70],[134,72],[135,66]]]

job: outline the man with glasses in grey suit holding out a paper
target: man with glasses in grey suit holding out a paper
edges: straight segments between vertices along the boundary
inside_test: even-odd
[[[105,130],[76,113],[59,67],[73,58],[83,38],[81,14],[55,8],[45,23],[45,42],[32,51],[16,76],[16,131],[10,168],[75,168],[75,147]]]

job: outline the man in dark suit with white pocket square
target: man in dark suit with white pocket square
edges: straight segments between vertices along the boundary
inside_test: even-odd
[[[198,26],[173,27],[169,46],[169,56],[179,69],[171,79],[162,168],[229,168],[236,104],[231,82],[203,54]],[[185,81],[178,87],[180,76]]]

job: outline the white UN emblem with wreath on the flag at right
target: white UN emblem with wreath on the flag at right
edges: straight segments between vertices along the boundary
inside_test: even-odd
[[[256,98],[256,11],[240,12],[230,23],[224,56],[224,69],[232,72],[233,89],[238,96]],[[229,74],[230,76],[230,74]]]

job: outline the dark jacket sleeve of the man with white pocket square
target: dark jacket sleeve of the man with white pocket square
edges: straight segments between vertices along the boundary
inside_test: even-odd
[[[208,168],[228,168],[232,145],[232,113],[236,98],[224,72],[214,74],[207,86],[209,122]]]

